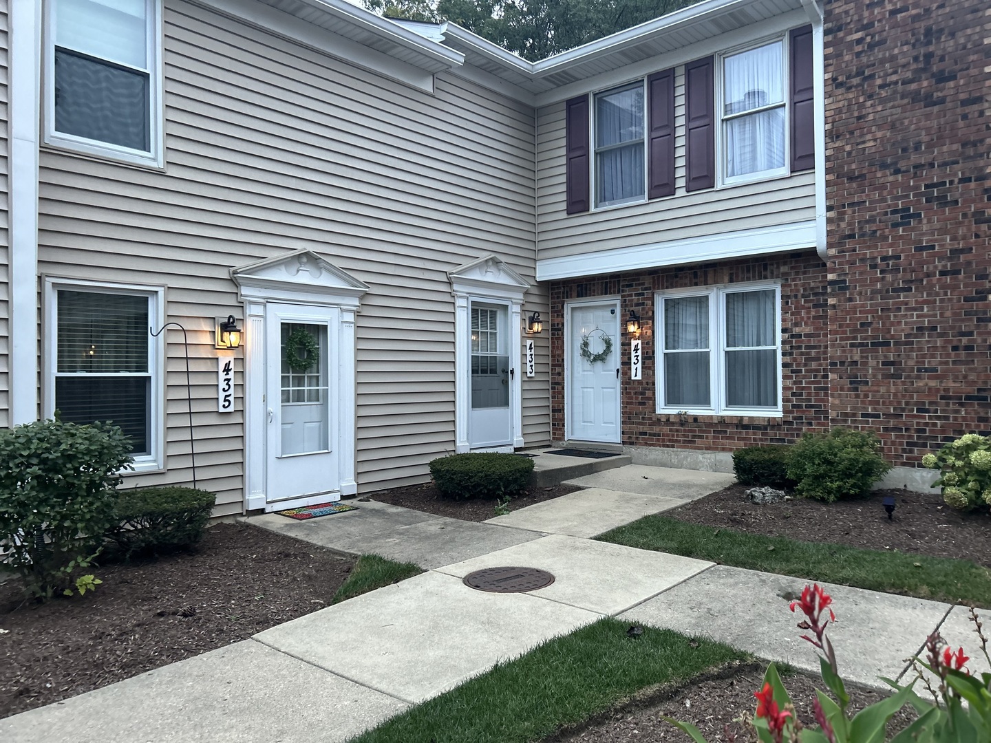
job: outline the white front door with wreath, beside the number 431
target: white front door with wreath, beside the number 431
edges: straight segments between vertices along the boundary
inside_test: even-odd
[[[567,307],[567,436],[575,441],[618,444],[622,440],[619,303],[610,299]],[[608,354],[600,360],[606,351]]]

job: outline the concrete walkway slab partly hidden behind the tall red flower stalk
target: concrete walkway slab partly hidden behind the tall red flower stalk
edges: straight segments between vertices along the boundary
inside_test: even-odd
[[[816,649],[801,639],[801,614],[788,609],[809,581],[716,566],[620,615],[621,619],[707,635],[761,658],[819,673]],[[949,605],[845,585],[822,584],[833,598],[836,623],[829,639],[840,674],[887,689],[897,679]]]

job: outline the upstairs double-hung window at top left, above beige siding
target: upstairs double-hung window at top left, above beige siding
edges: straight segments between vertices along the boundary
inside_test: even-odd
[[[53,0],[46,142],[161,164],[161,0]]]

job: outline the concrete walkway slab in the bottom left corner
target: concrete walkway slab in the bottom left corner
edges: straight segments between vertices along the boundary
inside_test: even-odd
[[[336,743],[407,706],[245,640],[0,720],[0,740]]]

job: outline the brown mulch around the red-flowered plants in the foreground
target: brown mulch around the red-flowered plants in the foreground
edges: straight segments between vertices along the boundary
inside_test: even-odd
[[[763,686],[764,670],[756,665],[728,668],[706,674],[692,684],[678,688],[653,690],[632,701],[599,715],[569,730],[563,730],[545,743],[566,741],[596,741],[596,743],[653,743],[654,741],[690,741],[688,735],[661,719],[667,715],[698,727],[711,743],[723,740],[723,728],[729,725],[736,740],[749,741],[751,736],[738,720],[753,715],[757,706],[754,691]],[[812,708],[816,689],[825,689],[819,679],[804,674],[783,676],[785,688],[795,702],[796,715],[804,724],[816,727]],[[847,685],[851,710],[862,709],[884,697],[884,692]],[[889,724],[889,733],[907,727],[915,712],[903,709]]]

